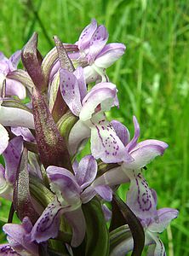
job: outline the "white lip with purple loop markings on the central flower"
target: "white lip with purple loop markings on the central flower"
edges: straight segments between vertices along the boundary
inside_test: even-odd
[[[91,120],[91,152],[95,159],[105,163],[132,160],[103,113],[96,113]]]

